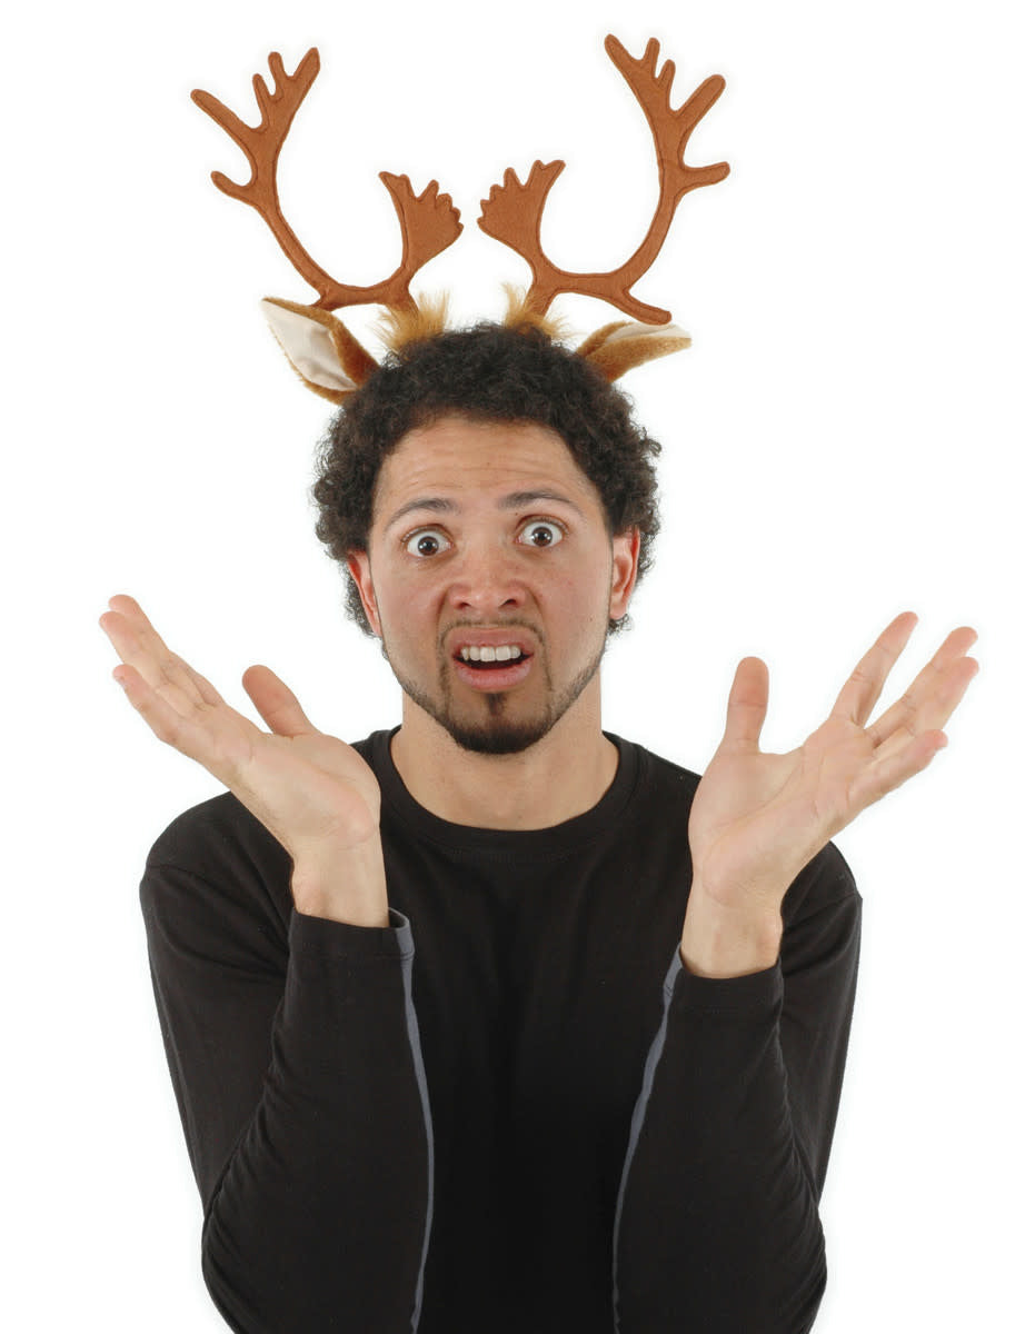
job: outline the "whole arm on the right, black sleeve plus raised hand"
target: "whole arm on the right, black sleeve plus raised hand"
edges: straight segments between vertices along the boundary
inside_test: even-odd
[[[665,982],[615,1221],[622,1334],[803,1334],[826,1283],[818,1219],[854,1003],[861,898],[829,842],[920,774],[978,671],[960,626],[869,724],[908,644],[896,616],[825,723],[763,752],[769,670],[741,660],[687,822],[693,894]],[[791,891],[810,874],[839,892]],[[843,879],[849,884],[843,886]],[[783,910],[786,899],[801,904]],[[775,962],[777,918],[783,922]],[[693,970],[687,966],[693,962]],[[762,964],[762,967],[759,967]],[[622,1319],[622,1325],[619,1321]]]

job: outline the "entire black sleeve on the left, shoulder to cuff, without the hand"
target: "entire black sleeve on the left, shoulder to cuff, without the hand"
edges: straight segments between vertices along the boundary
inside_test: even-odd
[[[410,1334],[432,1203],[410,922],[295,911],[283,939],[264,831],[190,815],[140,899],[210,1294],[242,1334]]]

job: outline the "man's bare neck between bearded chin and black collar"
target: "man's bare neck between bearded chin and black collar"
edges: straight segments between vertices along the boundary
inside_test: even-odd
[[[617,747],[602,732],[597,699],[591,710],[585,704],[578,711],[583,703],[581,696],[527,750],[482,755],[456,746],[403,695],[391,758],[414,800],[439,819],[475,828],[549,828],[597,806],[619,764]]]

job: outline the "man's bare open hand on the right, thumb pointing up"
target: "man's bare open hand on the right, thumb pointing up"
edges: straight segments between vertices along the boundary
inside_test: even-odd
[[[786,755],[758,748],[769,668],[761,658],[742,659],[726,732],[694,794],[689,824],[691,894],[702,896],[703,911],[717,922],[778,920],[802,867],[866,806],[921,772],[946,746],[942,727],[978,671],[976,659],[965,658],[978,639],[970,626],[953,630],[908,692],[865,726],[917,622],[912,611],[890,622],[825,723]]]

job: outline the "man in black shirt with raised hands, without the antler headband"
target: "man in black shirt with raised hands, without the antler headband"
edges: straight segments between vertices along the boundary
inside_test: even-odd
[[[262,731],[133,599],[100,618],[131,703],[230,788],[157,838],[141,906],[232,1329],[811,1327],[861,922],[829,838],[945,742],[976,632],[866,727],[898,616],[789,755],[751,658],[703,778],[603,732],[658,527],[625,402],[499,325],[347,402],[318,535],[403,688],[390,731],[327,736],[255,666]]]

